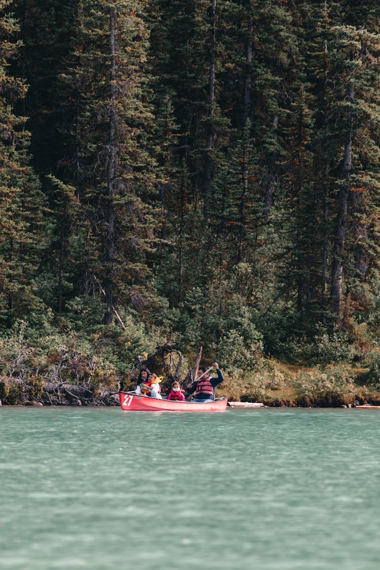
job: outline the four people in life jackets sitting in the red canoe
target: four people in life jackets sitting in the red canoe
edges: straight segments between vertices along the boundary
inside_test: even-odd
[[[179,382],[175,381],[171,384],[171,391],[167,400],[177,400],[185,401],[185,394],[194,394],[193,402],[201,402],[203,404],[207,402],[215,401],[215,389],[221,382],[223,382],[224,377],[222,370],[219,368],[219,364],[214,362],[213,367],[216,370],[217,376],[210,377],[209,371],[211,368],[207,369],[206,366],[201,366],[198,368],[198,378],[193,382],[193,384],[188,384],[186,390],[181,390]],[[148,368],[141,368],[140,374],[137,379],[136,394],[142,394],[144,396],[150,396],[151,398],[158,398],[162,400],[160,382],[162,378],[157,377],[148,370]]]

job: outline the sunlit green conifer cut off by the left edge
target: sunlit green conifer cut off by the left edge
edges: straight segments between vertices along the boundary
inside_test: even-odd
[[[17,58],[19,30],[10,2],[0,2],[0,308],[2,324],[41,309],[34,279],[43,251],[44,201],[39,182],[29,166],[25,119],[14,108],[26,93],[24,82],[9,75],[10,60]]]

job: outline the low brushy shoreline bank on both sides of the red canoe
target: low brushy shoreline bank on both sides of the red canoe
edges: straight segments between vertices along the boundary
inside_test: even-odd
[[[227,397],[230,408],[350,408],[355,405],[380,405],[380,392],[375,386],[366,386],[349,378],[335,377],[330,371],[310,370],[299,377],[255,374],[250,383],[236,381],[226,375],[216,397]],[[3,406],[59,406],[59,407],[118,407],[119,391],[133,390],[136,379],[91,384],[83,382],[46,381],[43,378],[0,377],[0,405]],[[166,393],[164,390],[163,394]]]

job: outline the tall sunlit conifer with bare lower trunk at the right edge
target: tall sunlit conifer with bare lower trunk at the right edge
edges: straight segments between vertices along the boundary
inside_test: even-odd
[[[344,25],[332,26],[325,40],[325,119],[329,137],[325,156],[329,161],[329,195],[335,217],[330,306],[339,321],[344,286],[352,279],[367,279],[373,255],[368,247],[367,229],[371,225],[368,215],[370,211],[374,213],[378,194],[374,125],[379,103],[376,59],[380,44],[378,35]],[[356,258],[352,269],[350,255]]]

